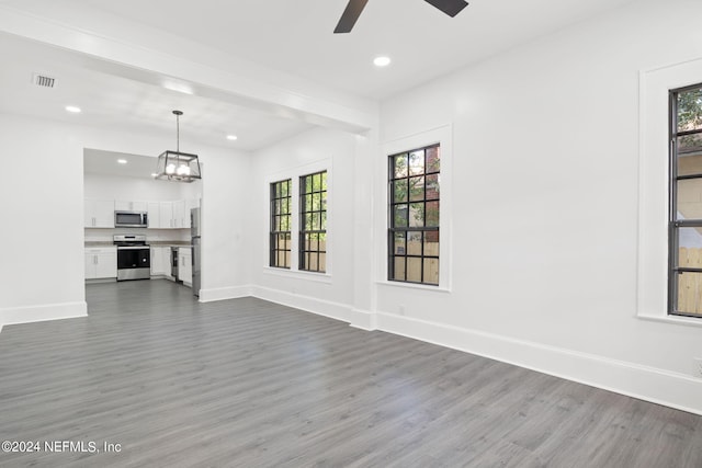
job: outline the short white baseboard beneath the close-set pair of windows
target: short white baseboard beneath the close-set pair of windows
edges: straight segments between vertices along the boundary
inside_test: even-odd
[[[346,304],[332,303],[330,300],[317,299],[315,297],[285,293],[280,289],[261,286],[253,286],[251,288],[251,295],[259,299],[270,300],[271,303],[302,309],[306,312],[341,320],[354,328],[374,330],[374,328],[372,328],[374,313],[354,309]]]

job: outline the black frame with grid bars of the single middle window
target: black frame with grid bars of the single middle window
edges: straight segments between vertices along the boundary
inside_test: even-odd
[[[438,153],[438,159],[439,159],[439,170],[437,171],[428,171],[427,170],[427,161],[428,161],[428,151],[431,149],[437,149],[437,153]],[[418,151],[422,152],[422,172],[421,173],[411,173],[410,171],[410,159],[411,159],[411,155],[417,153]],[[407,158],[407,170],[406,170],[406,174],[397,176],[396,173],[396,164],[397,164],[397,159],[401,158],[401,157],[406,157]],[[395,282],[395,283],[408,283],[408,284],[416,284],[416,285],[422,285],[422,286],[431,286],[431,287],[438,287],[441,281],[441,274],[440,274],[440,265],[441,265],[441,252],[439,249],[437,249],[437,253],[435,254],[430,254],[427,253],[426,251],[426,239],[427,236],[430,232],[435,232],[435,237],[437,237],[437,242],[439,243],[439,247],[441,246],[441,241],[440,241],[440,237],[441,237],[441,226],[440,226],[440,221],[441,221],[441,144],[440,142],[434,142],[431,145],[427,145],[420,148],[414,148],[411,150],[408,151],[400,151],[398,153],[394,153],[394,155],[388,155],[387,156],[387,206],[388,206],[388,229],[387,229],[387,281],[388,282]],[[432,197],[432,198],[428,198],[428,183],[427,183],[427,179],[428,176],[435,176],[437,178],[437,185],[439,186],[439,190],[437,191],[437,197]],[[411,180],[412,179],[418,179],[421,178],[421,184],[422,184],[422,190],[421,190],[421,197],[415,197],[412,198],[411,196]],[[399,182],[405,181],[405,186],[406,186],[406,196],[405,199],[397,199],[396,197],[396,187],[398,186]],[[427,204],[428,203],[437,203],[438,204],[438,208],[437,208],[437,215],[439,217],[439,219],[437,220],[435,225],[428,225],[428,208],[427,208]],[[411,226],[410,222],[410,213],[411,213],[411,205],[415,204],[420,204],[423,207],[423,216],[422,216],[422,226]],[[396,209],[398,206],[401,205],[407,205],[407,209],[405,213],[406,216],[406,222],[405,226],[396,226],[396,221],[397,221],[397,216],[396,216]],[[409,237],[412,232],[416,233],[420,233],[421,235],[421,240],[420,240],[420,252],[419,254],[414,253],[410,254],[409,253],[409,249],[408,247],[408,242],[409,242]],[[395,249],[395,240],[397,238],[397,235],[401,233],[404,237],[404,243],[405,243],[405,250],[403,253],[398,253]],[[404,259],[404,279],[399,279],[397,278],[397,272],[396,272],[396,265],[397,265],[397,259]],[[419,281],[411,281],[408,278],[408,263],[409,263],[409,259],[419,259],[420,262],[420,279]],[[424,277],[426,273],[427,273],[427,269],[424,267],[426,265],[426,261],[428,260],[435,260],[437,261],[437,282],[429,282],[427,281],[427,278]]]

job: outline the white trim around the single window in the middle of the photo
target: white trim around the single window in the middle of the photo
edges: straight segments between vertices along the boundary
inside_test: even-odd
[[[381,286],[405,287],[421,290],[433,290],[439,293],[451,292],[451,243],[453,233],[451,230],[451,214],[452,210],[452,162],[453,162],[453,128],[451,125],[444,125],[426,132],[409,135],[403,138],[385,141],[381,144],[381,157],[377,158],[377,164],[375,164],[376,173],[380,174],[378,180],[378,210],[376,216],[382,219],[377,219],[376,226],[383,228],[382,239],[384,242],[378,242],[378,250],[376,252],[378,264],[376,272],[381,277],[376,278],[376,284]],[[441,171],[440,171],[440,205],[439,205],[439,286],[392,282],[387,279],[387,230],[388,230],[388,217],[387,217],[387,158],[390,155],[397,155],[403,151],[409,151],[417,148],[423,148],[439,144],[441,146]]]

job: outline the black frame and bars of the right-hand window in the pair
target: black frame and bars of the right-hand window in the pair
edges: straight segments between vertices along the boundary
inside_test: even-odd
[[[314,187],[314,178],[315,176],[320,176],[320,182],[319,182],[319,189],[315,190]],[[297,254],[298,254],[298,260],[297,260],[297,270],[301,272],[307,272],[307,273],[321,273],[325,274],[327,273],[327,217],[328,217],[328,192],[329,192],[329,186],[328,186],[328,171],[326,169],[320,170],[320,171],[316,171],[316,172],[312,172],[312,173],[307,173],[304,175],[301,175],[298,179],[298,192],[299,192],[299,217],[298,217],[298,236],[297,236]],[[312,186],[309,187],[310,190],[307,190],[307,179],[312,178]],[[318,208],[319,209],[314,209],[314,203],[316,197],[319,197],[318,201]],[[306,204],[306,198],[310,197],[312,203],[310,205],[313,205],[313,209],[307,210],[307,204]],[[308,228],[307,227],[307,216],[309,216],[310,218],[314,218],[316,216],[319,217],[318,219],[318,228],[314,229],[314,228]],[[314,226],[314,225],[313,225]],[[317,236],[317,248],[316,249],[310,249],[310,243],[307,240],[307,235],[310,236]],[[319,237],[324,237],[325,240],[325,248],[324,250],[320,248],[320,242],[321,239],[319,239]],[[316,262],[316,269],[313,269],[310,266],[312,264],[312,258],[316,256],[317,262]],[[321,265],[321,258],[324,255],[324,265]]]

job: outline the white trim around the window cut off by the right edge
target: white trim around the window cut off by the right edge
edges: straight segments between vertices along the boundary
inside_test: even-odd
[[[669,91],[702,82],[702,58],[639,75],[637,317],[702,327],[668,315]]]

